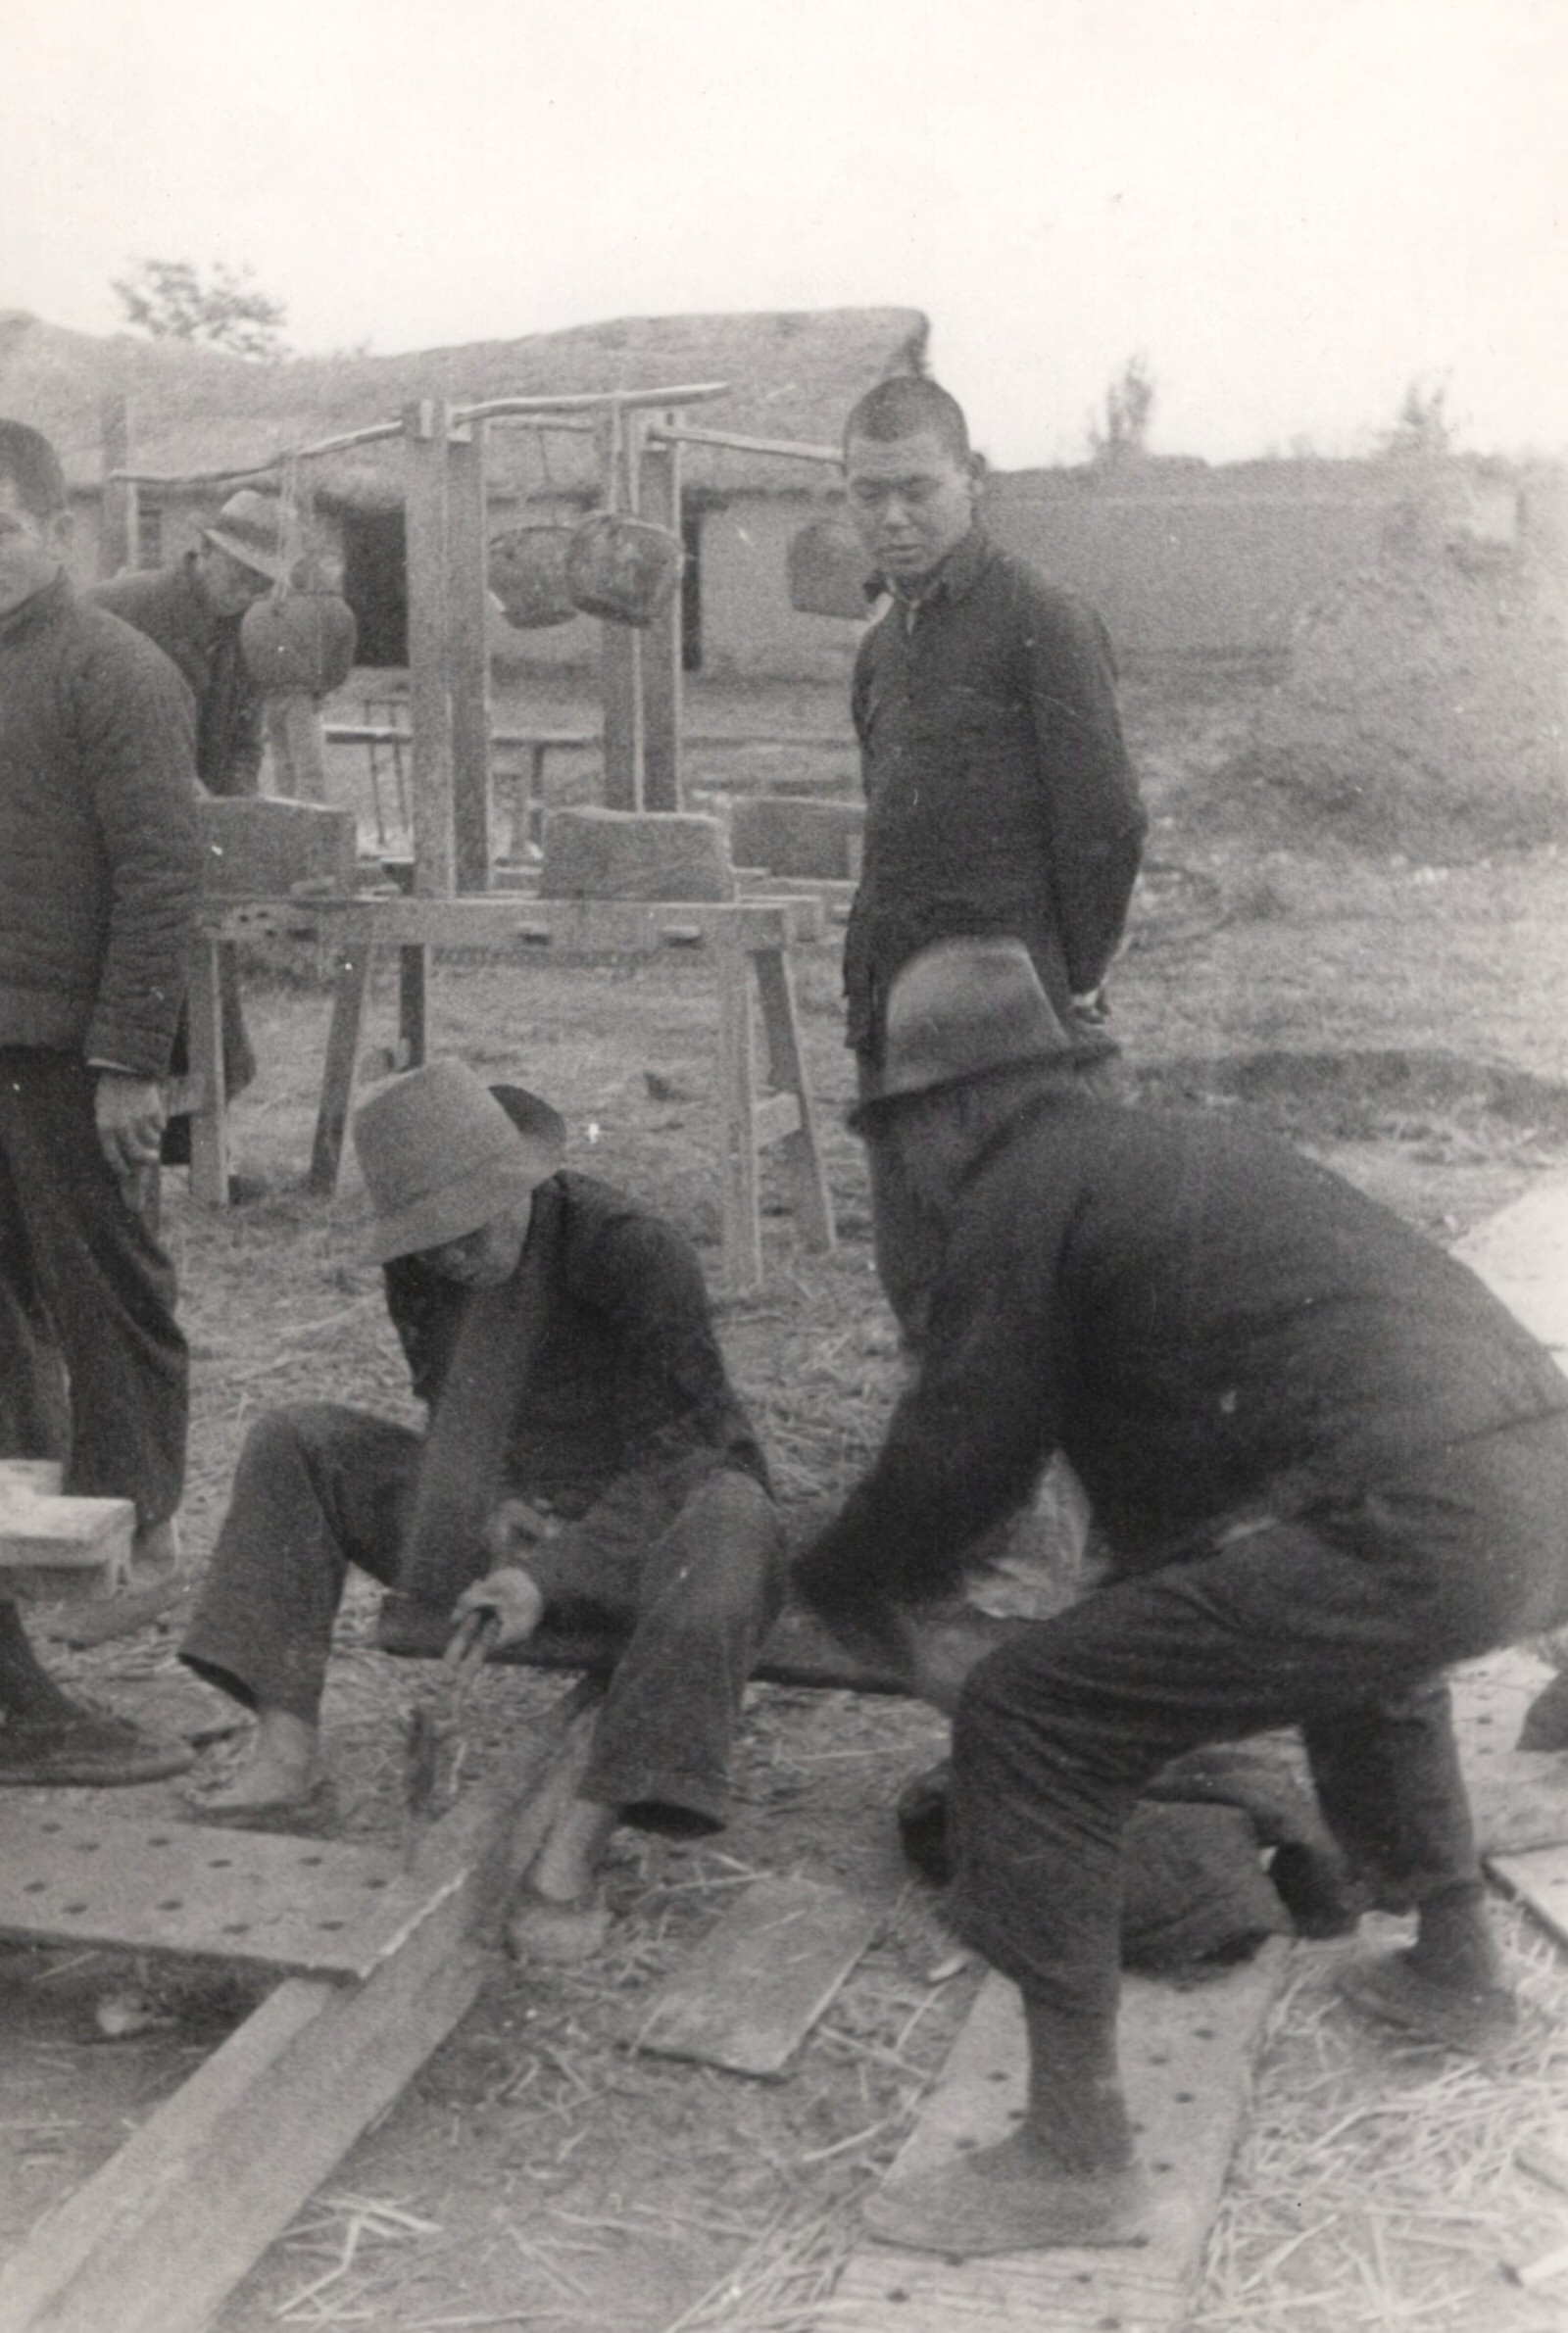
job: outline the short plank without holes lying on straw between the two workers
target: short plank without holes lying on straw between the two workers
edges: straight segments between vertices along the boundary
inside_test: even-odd
[[[730,2074],[782,2074],[877,1934],[842,1887],[763,1878],[653,1992],[632,2041]]]

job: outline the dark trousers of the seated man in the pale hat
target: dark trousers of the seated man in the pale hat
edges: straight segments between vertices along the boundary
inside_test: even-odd
[[[408,1428],[329,1402],[261,1418],[182,1659],[238,1701],[315,1722],[350,1563],[450,1605],[488,1565],[457,1549],[439,1582],[399,1572],[420,1451]],[[625,1631],[583,1794],[649,1824],[714,1829],[744,1684],[782,1600],[772,1500],[698,1453],[621,1477],[551,1547],[569,1572],[551,1610],[586,1605]]]

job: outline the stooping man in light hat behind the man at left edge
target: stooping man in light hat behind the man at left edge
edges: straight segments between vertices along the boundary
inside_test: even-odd
[[[245,663],[240,623],[280,579],[282,502],[240,488],[203,527],[196,551],[173,567],[128,569],[96,583],[89,597],[121,623],[154,639],[180,670],[196,700],[196,777],[208,793],[257,793],[261,784],[261,693]],[[238,952],[219,947],[219,1006],[224,1017],[224,1092],[243,1094],[257,1076]],[[175,1036],[173,1066],[189,1069],[189,1031]],[[163,1164],[189,1166],[191,1122],[175,1118],[163,1132]],[[252,1178],[236,1176],[231,1197],[250,1197]]]

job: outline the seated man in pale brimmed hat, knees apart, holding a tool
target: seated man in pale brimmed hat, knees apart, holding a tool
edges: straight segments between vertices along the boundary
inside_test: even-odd
[[[350,1563],[399,1591],[383,1640],[490,1607],[506,1645],[586,1607],[625,1645],[579,1796],[509,1922],[518,1957],[579,1957],[604,1934],[595,1873],[618,1822],[723,1822],[744,1682],[782,1598],[768,1467],[691,1243],[562,1166],[548,1104],[432,1062],[364,1101],[355,1148],[429,1425],[317,1402],[252,1428],[182,1647],[257,1710],[250,1766],[205,1810],[271,1822],[320,1796]]]

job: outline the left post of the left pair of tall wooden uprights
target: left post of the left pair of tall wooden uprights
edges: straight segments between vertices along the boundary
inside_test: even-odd
[[[408,712],[413,716],[413,889],[450,898],[453,695],[448,672],[448,406],[404,406],[408,443]]]

